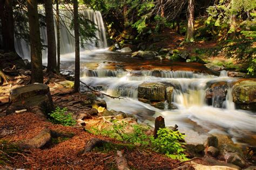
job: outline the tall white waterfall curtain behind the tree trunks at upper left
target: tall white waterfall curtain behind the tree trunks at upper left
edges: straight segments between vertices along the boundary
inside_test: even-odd
[[[81,9],[79,10],[82,15],[87,19],[90,19],[93,23],[97,25],[96,40],[92,42],[87,42],[84,49],[82,50],[94,50],[97,48],[107,47],[105,27],[102,15],[99,11],[93,11],[92,9]],[[73,38],[73,31],[70,30],[69,24],[71,23],[72,13],[68,10],[60,10],[60,54],[64,55],[66,53],[75,52],[75,39]],[[66,25],[64,24],[66,23]],[[46,27],[41,26],[40,28],[42,44],[47,45],[47,36],[46,36]],[[56,18],[55,18],[55,33],[57,39],[57,30],[56,30]],[[24,59],[30,59],[30,46],[24,39],[18,39],[15,37],[15,49],[19,56]],[[42,51],[42,58],[44,62],[47,60],[47,48]]]

